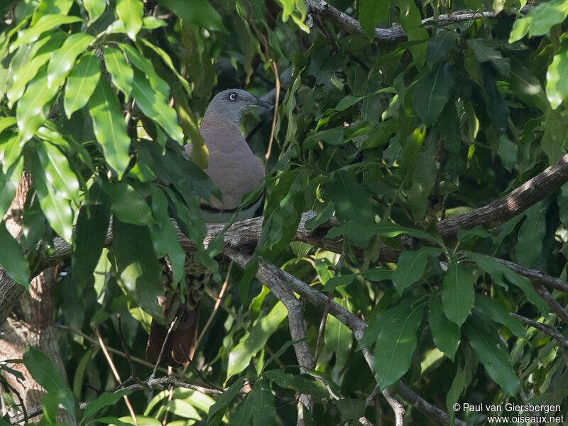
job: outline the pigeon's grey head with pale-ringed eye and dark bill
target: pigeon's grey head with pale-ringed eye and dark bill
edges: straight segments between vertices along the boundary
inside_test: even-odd
[[[239,126],[243,115],[252,107],[271,108],[272,105],[241,89],[224,90],[209,103],[203,117],[203,123],[214,124],[220,121],[228,121]]]

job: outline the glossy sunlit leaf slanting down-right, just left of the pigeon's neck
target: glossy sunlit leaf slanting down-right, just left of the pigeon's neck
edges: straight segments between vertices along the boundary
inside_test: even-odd
[[[149,119],[160,124],[173,140],[183,143],[183,131],[178,124],[175,110],[169,107],[168,99],[163,94],[152,89],[146,77],[138,70],[134,70],[132,95],[136,99],[138,108]]]

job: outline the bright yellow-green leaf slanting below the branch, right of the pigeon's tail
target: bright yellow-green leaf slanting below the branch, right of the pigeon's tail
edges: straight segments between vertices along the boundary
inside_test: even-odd
[[[268,338],[278,329],[281,322],[288,316],[288,311],[282,302],[276,303],[266,317],[254,324],[251,332],[245,334],[240,342],[229,353],[229,364],[226,376],[230,378],[243,371],[251,362],[253,356],[260,351]]]

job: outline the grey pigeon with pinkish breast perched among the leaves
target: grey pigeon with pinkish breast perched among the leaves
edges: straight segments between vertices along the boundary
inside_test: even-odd
[[[207,223],[226,223],[236,212],[236,221],[261,215],[263,193],[241,207],[243,195],[261,185],[265,175],[263,164],[249,148],[239,126],[243,115],[253,107],[272,105],[244,90],[229,89],[217,94],[205,111],[200,133],[209,151],[209,163],[204,172],[222,195],[222,200],[216,197],[209,202],[202,200],[202,217]],[[184,149],[189,159],[192,144],[188,143]],[[160,264],[164,293],[158,296],[158,304],[163,308],[164,324],[152,320],[146,359],[155,364],[163,348],[161,362],[172,367],[187,366],[196,349],[199,301],[212,273],[195,261],[191,253],[187,254],[182,302],[179,290],[176,292],[170,285],[173,276],[168,258],[160,259]]]

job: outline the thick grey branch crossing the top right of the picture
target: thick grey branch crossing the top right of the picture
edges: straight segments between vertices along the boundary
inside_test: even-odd
[[[361,37],[366,37],[361,24],[355,18],[339,11],[334,8],[334,6],[328,4],[324,0],[305,0],[310,13],[322,16],[323,18],[331,21],[344,28],[350,34],[359,35]],[[532,7],[531,4],[527,4],[523,9],[520,9],[521,13],[526,13],[528,9]],[[474,19],[482,18],[496,18],[498,16],[494,11],[456,11],[452,13],[444,13],[437,16],[437,18],[426,18],[422,19],[422,26],[426,28],[432,28],[432,23],[437,24],[437,26],[448,26],[452,23],[471,21]],[[396,40],[403,40],[407,37],[403,30],[403,27],[399,23],[394,23],[391,28],[375,28],[375,36],[373,40],[376,43],[387,43]]]

